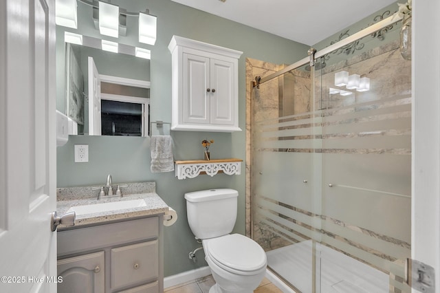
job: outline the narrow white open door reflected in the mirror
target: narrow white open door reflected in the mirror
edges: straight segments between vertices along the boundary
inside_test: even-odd
[[[101,135],[101,79],[94,58],[89,57],[89,135]]]

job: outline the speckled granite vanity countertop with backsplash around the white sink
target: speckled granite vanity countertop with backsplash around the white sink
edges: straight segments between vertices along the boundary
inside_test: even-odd
[[[57,188],[56,212],[58,215],[64,215],[72,206],[87,206],[92,204],[106,204],[112,202],[124,202],[129,200],[144,200],[135,208],[113,208],[107,211],[97,211],[91,213],[77,213],[75,218],[75,226],[83,226],[89,224],[103,223],[105,221],[115,221],[119,219],[129,219],[131,217],[142,217],[146,215],[160,215],[168,211],[168,205],[162,198],[155,193],[154,182],[145,184],[141,188],[133,188],[129,185],[130,191],[137,193],[126,194],[122,197],[111,199],[98,199],[98,192],[91,192],[91,186],[74,187],[74,188]],[[151,185],[153,183],[153,185]],[[122,184],[121,184],[122,185]],[[122,203],[121,203],[122,205]],[[67,228],[61,224],[58,228]]]

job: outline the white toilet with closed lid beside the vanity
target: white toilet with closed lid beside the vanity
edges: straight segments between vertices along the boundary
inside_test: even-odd
[[[229,234],[234,228],[239,193],[220,188],[186,193],[186,215],[201,239],[205,259],[217,282],[210,293],[249,293],[265,276],[266,254],[254,240]]]

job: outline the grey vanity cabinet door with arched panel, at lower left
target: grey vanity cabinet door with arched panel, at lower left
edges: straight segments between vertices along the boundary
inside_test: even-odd
[[[58,282],[58,292],[105,292],[103,251],[61,259],[57,270],[58,276],[63,277],[63,282]]]

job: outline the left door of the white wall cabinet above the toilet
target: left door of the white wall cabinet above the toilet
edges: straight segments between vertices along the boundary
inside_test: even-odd
[[[210,124],[209,58],[184,54],[184,123]]]

